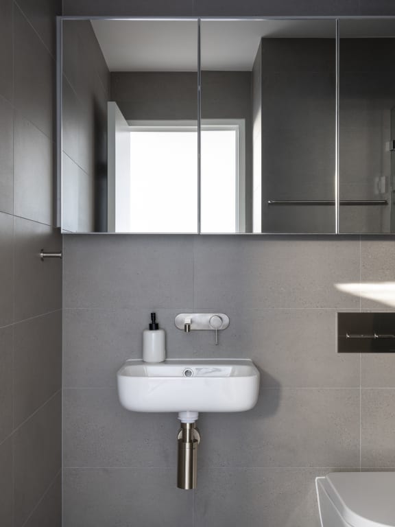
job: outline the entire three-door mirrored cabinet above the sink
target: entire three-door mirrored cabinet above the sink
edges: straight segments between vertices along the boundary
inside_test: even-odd
[[[395,19],[59,19],[64,233],[395,233]]]

